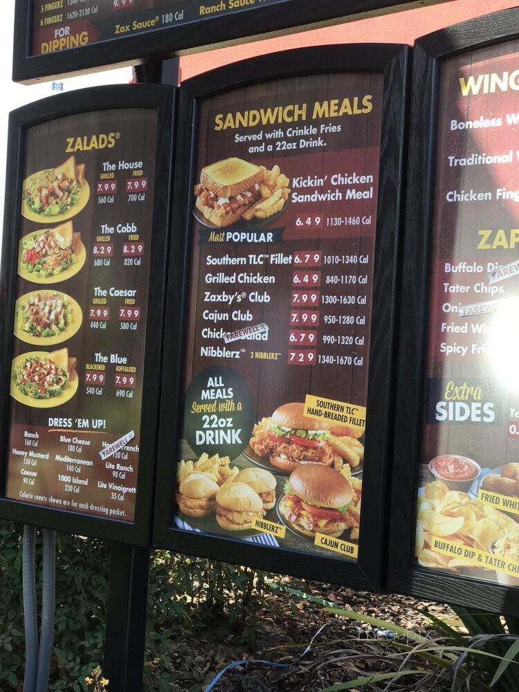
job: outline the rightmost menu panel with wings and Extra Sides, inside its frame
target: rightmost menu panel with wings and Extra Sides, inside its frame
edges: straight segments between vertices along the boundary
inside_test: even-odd
[[[417,559],[519,586],[519,42],[444,65]]]

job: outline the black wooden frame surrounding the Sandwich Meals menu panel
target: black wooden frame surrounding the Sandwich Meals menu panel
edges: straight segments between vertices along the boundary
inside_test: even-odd
[[[185,82],[179,97],[179,146],[174,190],[170,281],[165,327],[164,382],[156,482],[154,546],[185,554],[205,556],[273,572],[305,576],[377,590],[383,565],[387,527],[388,457],[392,424],[393,329],[397,288],[397,253],[401,223],[401,176],[403,166],[407,46],[358,44],[322,46],[275,53],[238,62]],[[299,554],[286,549],[256,546],[226,537],[207,536],[173,526],[176,509],[174,487],[183,418],[183,354],[188,324],[190,245],[192,238],[192,190],[197,174],[196,122],[204,98],[230,89],[331,73],[381,73],[383,103],[381,161],[379,164],[379,222],[376,227],[372,351],[367,395],[366,448],[362,502],[361,541],[358,562]]]

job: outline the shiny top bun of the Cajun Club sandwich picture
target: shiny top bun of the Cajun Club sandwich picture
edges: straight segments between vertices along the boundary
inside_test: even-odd
[[[334,468],[303,464],[293,471],[289,484],[294,495],[314,507],[338,509],[353,499],[353,486]]]

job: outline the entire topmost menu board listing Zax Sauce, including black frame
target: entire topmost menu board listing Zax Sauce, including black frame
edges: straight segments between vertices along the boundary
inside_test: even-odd
[[[423,5],[423,0],[85,0],[78,6],[73,0],[17,0],[13,79],[30,83]]]

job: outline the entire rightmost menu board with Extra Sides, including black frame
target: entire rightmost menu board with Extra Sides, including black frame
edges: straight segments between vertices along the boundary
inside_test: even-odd
[[[389,570],[392,590],[509,614],[519,587],[517,19],[498,12],[415,48],[410,147],[421,148],[408,185]]]

